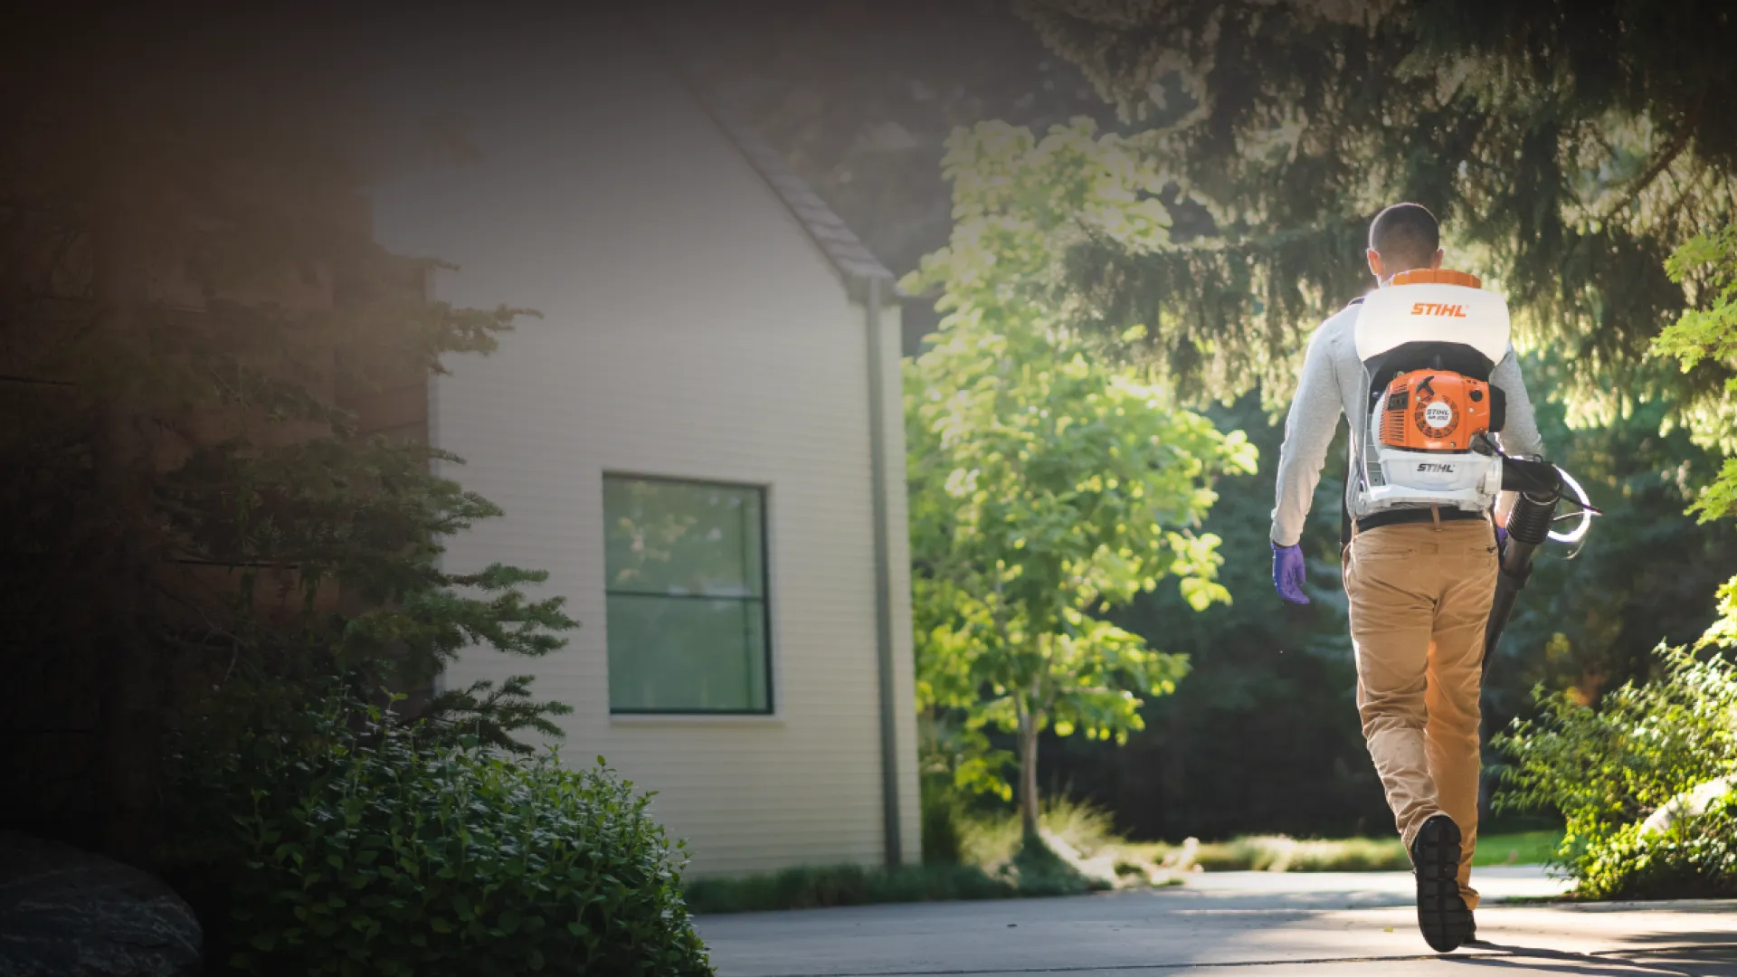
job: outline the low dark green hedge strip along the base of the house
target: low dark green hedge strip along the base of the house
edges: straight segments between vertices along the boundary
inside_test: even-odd
[[[1020,894],[1011,883],[990,878],[974,866],[896,869],[804,866],[745,878],[702,878],[690,881],[684,895],[695,913],[756,913],[875,902],[1007,899]]]

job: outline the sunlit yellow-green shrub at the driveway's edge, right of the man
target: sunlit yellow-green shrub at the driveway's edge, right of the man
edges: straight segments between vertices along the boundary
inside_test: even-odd
[[[1562,812],[1555,861],[1582,895],[1678,895],[1728,878],[1718,866],[1734,841],[1718,836],[1728,827],[1720,812],[1652,836],[1640,821],[1737,770],[1737,668],[1687,648],[1657,654],[1659,678],[1612,690],[1598,708],[1539,690],[1542,714],[1494,739],[1511,760],[1496,807]]]

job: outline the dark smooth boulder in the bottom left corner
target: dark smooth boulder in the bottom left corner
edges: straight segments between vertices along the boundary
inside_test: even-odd
[[[0,831],[0,977],[191,977],[200,923],[168,885]]]

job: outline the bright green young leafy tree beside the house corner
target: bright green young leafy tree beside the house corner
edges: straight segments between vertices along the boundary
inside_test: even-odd
[[[1197,610],[1228,598],[1218,539],[1192,527],[1211,478],[1252,471],[1254,450],[1058,323],[1063,242],[1164,236],[1164,210],[1138,198],[1150,174],[1115,137],[983,123],[954,136],[947,176],[952,243],[905,282],[943,289],[948,313],[907,374],[919,702],[964,711],[978,749],[985,727],[1016,732],[1030,836],[1039,734],[1122,742],[1141,695],[1185,671],[1101,614],[1171,574]],[[992,765],[964,774],[1006,789]]]

